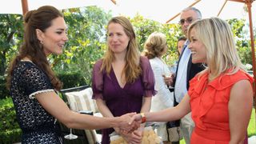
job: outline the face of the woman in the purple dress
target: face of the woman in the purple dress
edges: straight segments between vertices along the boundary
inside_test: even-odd
[[[110,23],[108,26],[107,44],[114,54],[126,53],[130,38],[123,27],[118,23]]]

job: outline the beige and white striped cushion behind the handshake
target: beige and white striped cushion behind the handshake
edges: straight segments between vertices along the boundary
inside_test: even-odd
[[[98,112],[96,101],[92,99],[93,91],[89,87],[85,90],[65,93],[69,102],[77,102],[78,110],[91,110],[94,113]]]

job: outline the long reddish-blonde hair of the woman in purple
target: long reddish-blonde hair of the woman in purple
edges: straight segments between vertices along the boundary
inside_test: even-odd
[[[125,74],[126,82],[133,83],[139,77],[139,75],[142,74],[142,69],[140,67],[140,52],[138,50],[134,28],[129,19],[123,16],[111,18],[110,22],[108,22],[107,30],[110,23],[120,24],[123,27],[126,35],[130,38],[126,52],[126,66],[124,67],[124,70],[122,70],[122,74]],[[106,70],[106,74],[110,74],[111,63],[113,61],[114,53],[109,47],[107,47],[106,53],[102,58],[101,72]]]

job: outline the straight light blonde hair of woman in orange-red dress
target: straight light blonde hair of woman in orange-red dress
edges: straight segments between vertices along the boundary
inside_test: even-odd
[[[234,37],[227,22],[220,18],[195,21],[189,27],[188,38],[193,29],[198,40],[206,47],[206,62],[207,70],[211,74],[210,79],[217,78],[222,73],[234,74],[239,69],[243,70]]]

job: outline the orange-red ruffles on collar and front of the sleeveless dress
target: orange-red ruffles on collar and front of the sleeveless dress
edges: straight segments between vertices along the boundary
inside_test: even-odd
[[[211,107],[214,106],[215,98],[218,96],[216,93],[233,86],[236,82],[241,80],[249,80],[250,83],[254,82],[254,79],[250,76],[250,74],[246,74],[246,72],[242,70],[238,70],[238,72],[234,74],[221,74],[218,78],[215,78],[209,83],[208,75],[208,73],[205,73],[194,77],[190,81],[190,90],[188,91],[188,94],[190,95],[190,102],[192,102],[194,98],[200,97],[200,103],[198,103],[198,106],[201,108],[198,112],[198,117],[195,117],[194,121],[196,121],[195,123],[197,123],[197,126],[202,130],[206,130],[206,126],[204,126],[202,118],[208,113]],[[207,96],[203,95],[204,90],[206,89],[211,89],[211,94],[208,92],[209,94],[207,94]],[[227,99],[229,99],[229,96]]]

